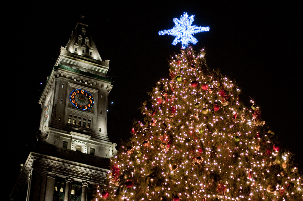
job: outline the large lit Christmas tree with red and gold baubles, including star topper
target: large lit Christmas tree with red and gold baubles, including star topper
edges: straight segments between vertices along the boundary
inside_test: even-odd
[[[185,14],[161,32],[183,46],[171,57],[170,79],[149,93],[144,122],[134,122],[94,200],[301,200],[292,154],[276,143],[258,105],[246,107],[236,83],[208,68],[204,50],[187,46],[196,42],[192,33],[209,28],[191,26]],[[180,36],[182,29],[191,31]]]

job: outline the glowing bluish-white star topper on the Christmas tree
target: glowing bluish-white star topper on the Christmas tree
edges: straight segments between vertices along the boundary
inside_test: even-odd
[[[178,42],[181,42],[182,48],[185,48],[188,43],[196,44],[198,40],[193,37],[193,34],[209,31],[209,27],[197,27],[197,25],[191,26],[194,21],[195,15],[188,17],[187,13],[184,12],[184,15],[180,17],[180,20],[174,18],[175,27],[169,30],[159,31],[159,35],[173,35],[176,36],[175,40],[172,42],[173,45],[176,45]]]

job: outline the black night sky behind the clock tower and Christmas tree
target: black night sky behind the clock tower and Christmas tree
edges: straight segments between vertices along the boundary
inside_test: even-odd
[[[302,170],[300,6],[264,1],[170,2],[27,2],[12,11],[17,20],[10,21],[5,32],[13,37],[3,41],[13,40],[14,47],[9,47],[13,62],[6,68],[7,78],[14,82],[11,91],[18,91],[15,99],[19,101],[9,117],[13,131],[9,136],[14,136],[15,146],[14,151],[8,149],[12,175],[8,192],[38,130],[38,100],[44,86],[39,83],[45,84],[60,47],[67,43],[81,15],[93,29],[101,58],[110,60],[110,74],[115,76],[109,94],[109,101],[114,102],[108,112],[111,142],[128,139],[132,120],[143,119],[138,107],[149,100],[146,92],[159,79],[169,77],[167,59],[180,52],[181,44],[171,45],[174,37],[159,36],[158,31],[171,29],[172,18],[188,12],[195,15],[193,25],[210,27],[209,32],[195,35],[195,51],[205,47],[208,66],[220,68],[223,75],[238,83],[245,105],[250,106],[249,97],[256,101],[262,119],[275,130],[283,147],[295,154]]]

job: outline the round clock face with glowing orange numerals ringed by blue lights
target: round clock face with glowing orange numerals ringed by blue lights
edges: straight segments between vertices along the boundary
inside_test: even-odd
[[[91,109],[94,105],[92,94],[83,89],[75,89],[69,94],[69,101],[72,105],[80,110]]]

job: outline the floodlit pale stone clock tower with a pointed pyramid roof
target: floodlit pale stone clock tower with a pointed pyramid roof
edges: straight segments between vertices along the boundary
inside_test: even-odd
[[[116,143],[107,135],[113,85],[90,34],[78,23],[47,77],[37,145],[22,167],[11,200],[87,201],[102,184]]]

